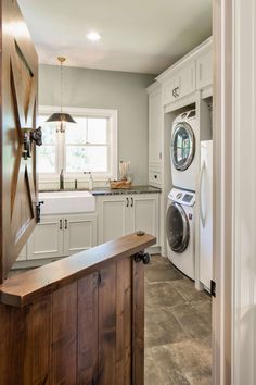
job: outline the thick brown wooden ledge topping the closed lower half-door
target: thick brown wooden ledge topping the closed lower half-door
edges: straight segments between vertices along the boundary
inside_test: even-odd
[[[136,233],[81,251],[60,261],[46,264],[8,278],[0,285],[0,302],[24,307],[65,285],[89,275],[116,259],[130,257],[154,245],[150,234]]]

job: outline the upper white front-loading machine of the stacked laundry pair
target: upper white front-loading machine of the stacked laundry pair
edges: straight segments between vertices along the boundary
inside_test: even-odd
[[[197,173],[196,137],[199,123],[195,110],[179,114],[174,123],[170,142],[172,185],[195,191]]]

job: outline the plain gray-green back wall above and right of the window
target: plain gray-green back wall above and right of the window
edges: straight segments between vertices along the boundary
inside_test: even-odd
[[[133,183],[148,183],[148,94],[154,76],[63,67],[63,105],[118,110],[118,159],[130,160]],[[40,65],[39,104],[60,104],[60,66]]]

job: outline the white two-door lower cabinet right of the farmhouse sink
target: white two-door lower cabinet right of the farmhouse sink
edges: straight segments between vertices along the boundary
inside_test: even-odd
[[[98,241],[103,244],[142,229],[158,244],[158,194],[98,197]]]

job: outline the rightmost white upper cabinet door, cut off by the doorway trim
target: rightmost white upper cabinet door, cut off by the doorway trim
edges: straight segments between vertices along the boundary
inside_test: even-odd
[[[196,88],[203,89],[213,84],[213,51],[208,50],[196,60]]]

